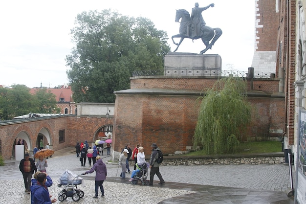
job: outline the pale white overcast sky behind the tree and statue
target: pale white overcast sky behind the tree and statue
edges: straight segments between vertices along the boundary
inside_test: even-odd
[[[155,27],[168,33],[171,51],[176,47],[171,36],[179,33],[175,9],[191,13],[215,3],[202,12],[206,25],[219,27],[223,34],[212,50],[219,54],[222,69],[247,71],[252,64],[255,41],[254,0],[3,0],[0,1],[0,85],[24,84],[29,88],[67,84],[66,55],[70,54],[70,29],[83,11],[115,10],[122,15],[146,17]],[[176,39],[178,42],[179,39]],[[202,41],[185,39],[177,52],[199,53]]]

